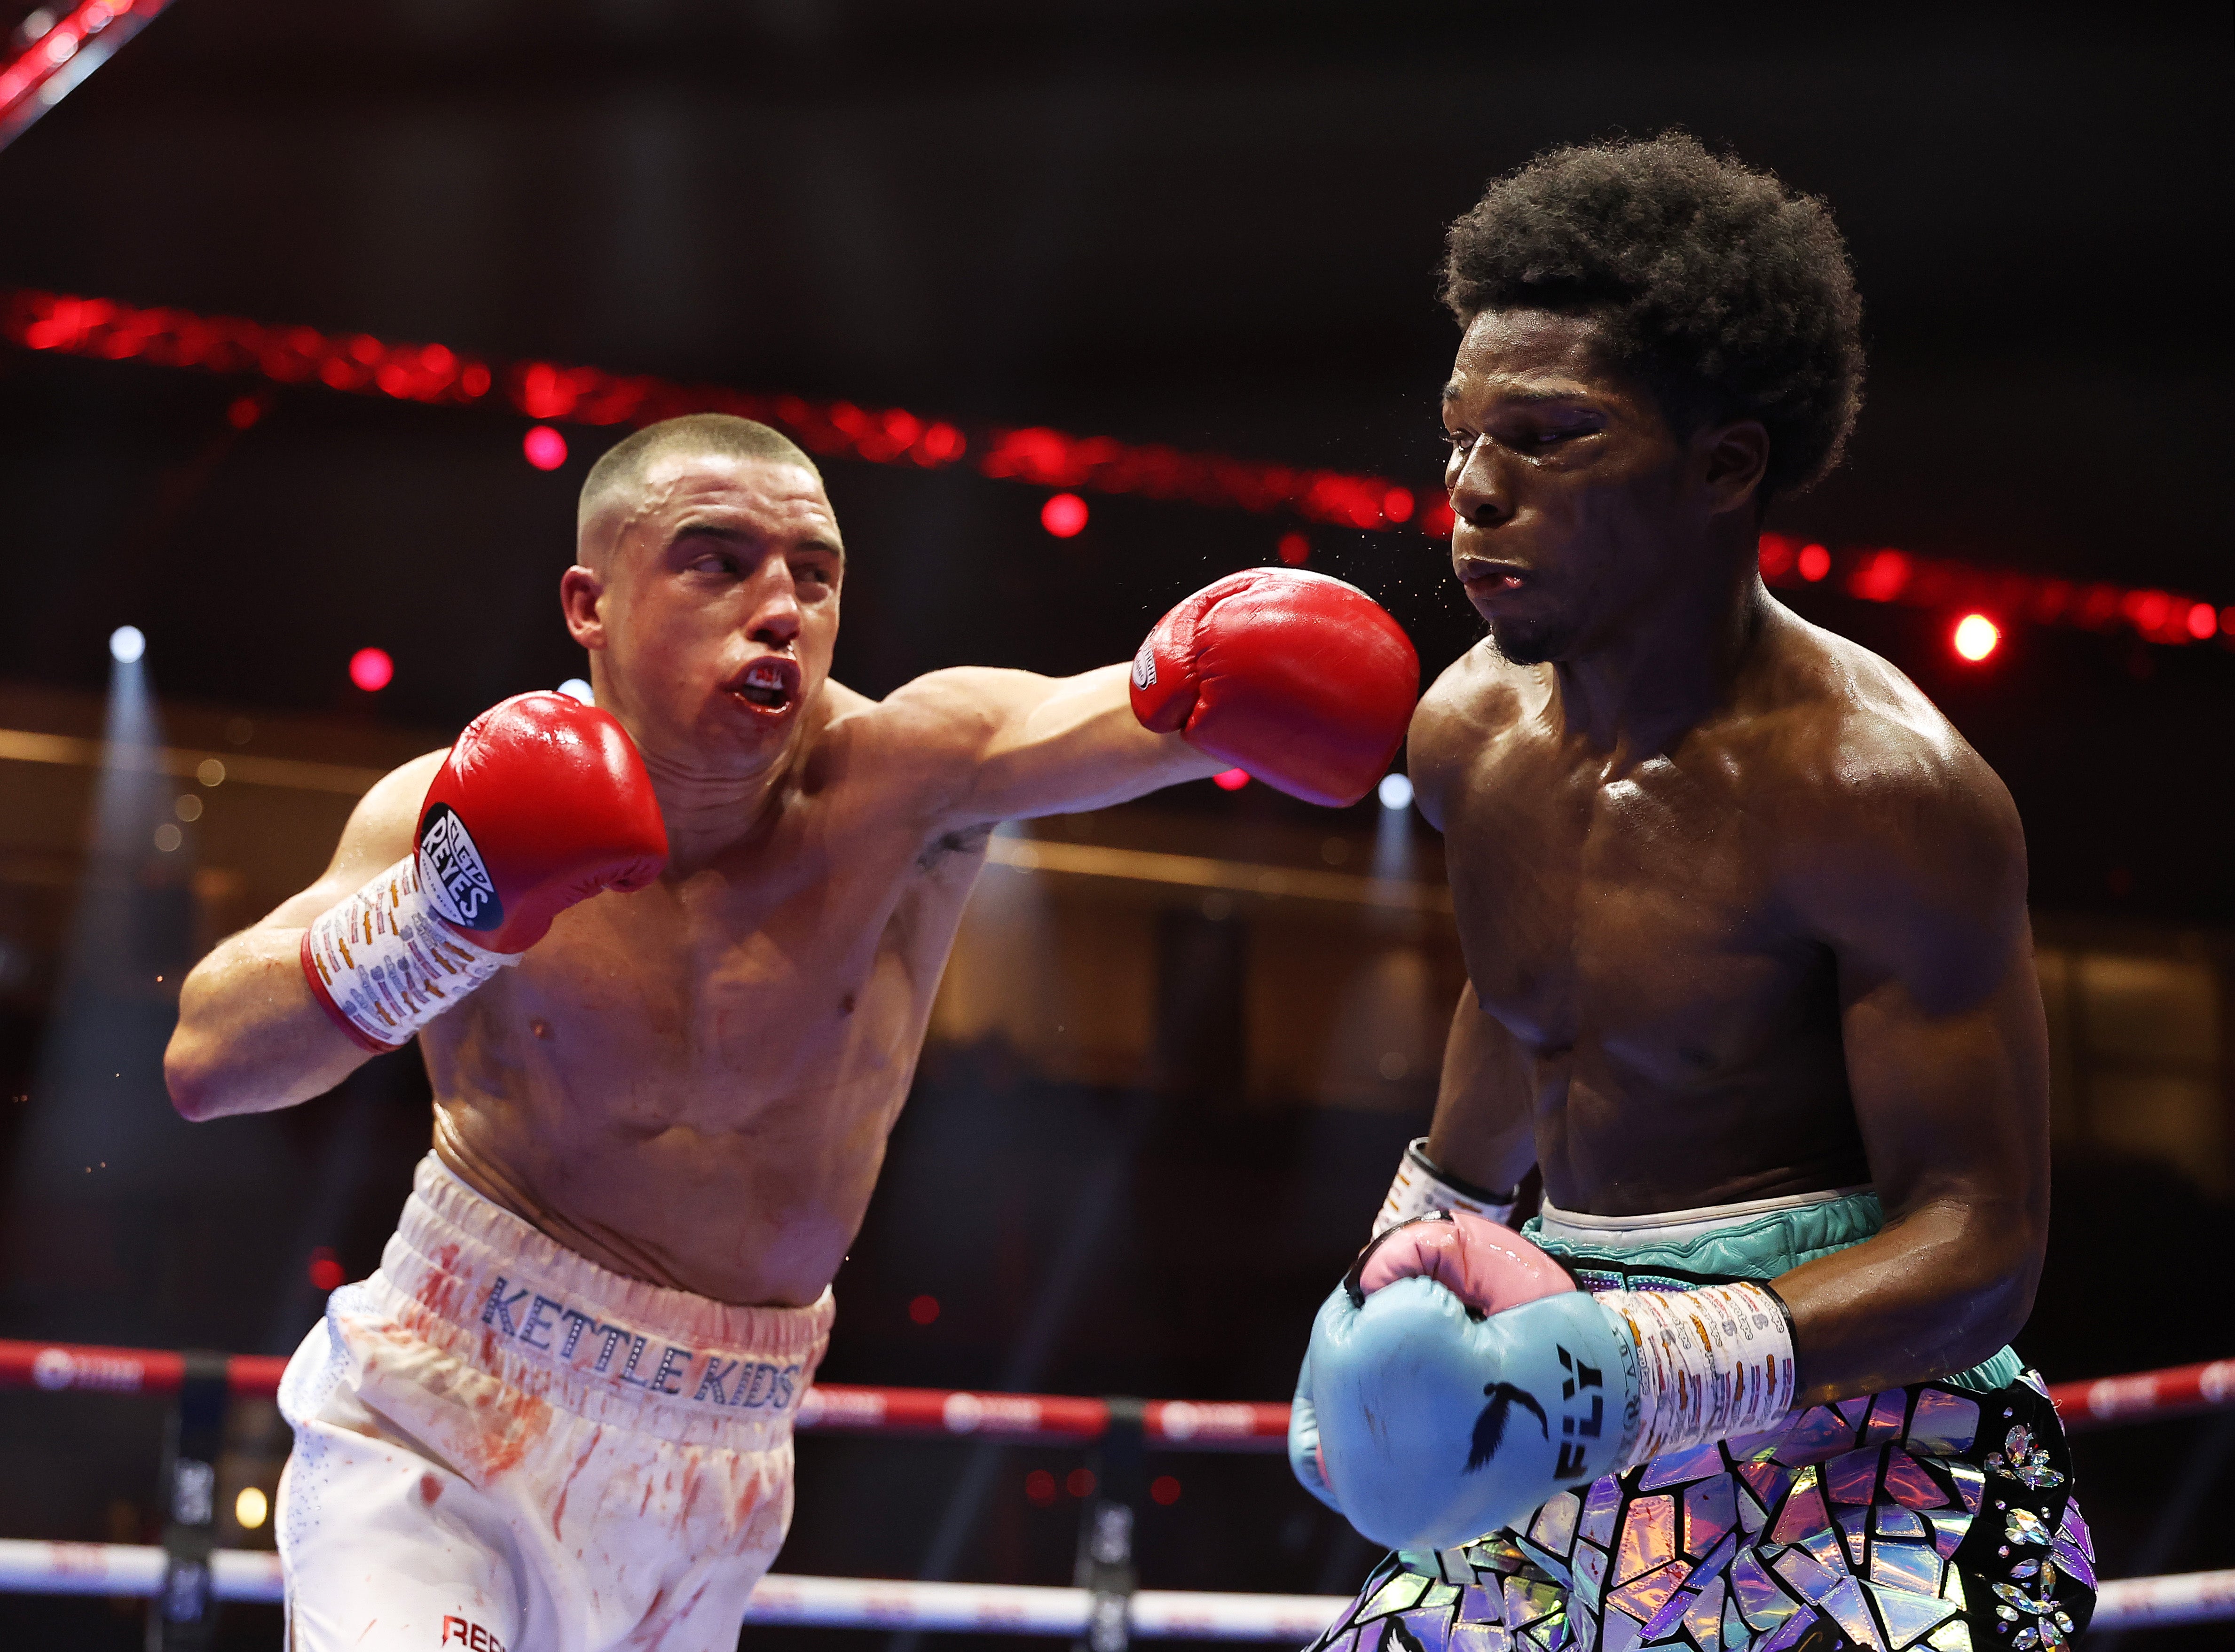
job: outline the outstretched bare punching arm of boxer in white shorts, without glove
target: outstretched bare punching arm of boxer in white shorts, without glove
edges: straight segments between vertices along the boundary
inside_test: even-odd
[[[986,666],[934,671],[885,704],[923,713],[910,722],[950,760],[943,765],[952,778],[943,809],[950,825],[1100,809],[1227,767],[1176,733],[1142,729],[1126,666],[1077,677]]]

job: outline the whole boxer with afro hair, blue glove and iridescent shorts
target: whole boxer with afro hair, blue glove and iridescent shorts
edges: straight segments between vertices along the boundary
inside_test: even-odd
[[[1468,988],[1299,1382],[1299,1478],[1395,1549],[1321,1645],[2061,1645],[2094,1556],[2007,1346],[2049,1216],[2018,814],[1757,568],[1862,400],[1839,232],[1681,134],[1556,150],[1453,224],[1444,300],[1489,637],[1410,773]]]

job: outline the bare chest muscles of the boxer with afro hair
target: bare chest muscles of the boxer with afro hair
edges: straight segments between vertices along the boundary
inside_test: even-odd
[[[1750,1062],[1819,959],[1728,753],[1623,773],[1486,751],[1446,809],[1468,979],[1540,1055],[1594,1051],[1670,1084]]]

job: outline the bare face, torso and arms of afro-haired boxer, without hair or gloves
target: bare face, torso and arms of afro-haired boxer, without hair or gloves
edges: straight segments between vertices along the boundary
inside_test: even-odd
[[[1428,1153],[1634,1216],[1873,1185],[1777,1281],[1808,1395],[1985,1359],[2047,1223],[2047,1035],[2000,780],[1754,568],[1761,423],[1678,431],[1598,320],[1482,311],[1444,391],[1491,626],[1413,720],[1468,990]]]

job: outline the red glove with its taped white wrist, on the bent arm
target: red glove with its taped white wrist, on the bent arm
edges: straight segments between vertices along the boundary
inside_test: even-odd
[[[668,863],[659,798],[628,733],[559,693],[523,693],[458,735],[420,805],[418,847],[326,908],[302,972],[333,1024],[391,1051],[599,890]]]

